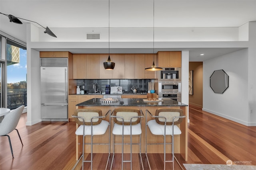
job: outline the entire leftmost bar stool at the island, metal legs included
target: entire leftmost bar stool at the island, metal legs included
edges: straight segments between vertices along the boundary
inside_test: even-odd
[[[75,121],[78,125],[78,129],[76,129],[76,135],[83,135],[83,152],[82,152],[82,170],[84,170],[84,162],[91,162],[91,170],[92,170],[92,153],[93,153],[93,145],[108,145],[108,160],[110,158],[110,128],[109,128],[109,140],[108,143],[93,143],[94,135],[104,135],[110,127],[110,123],[106,120],[102,120],[109,113],[110,120],[110,110],[102,116],[102,111],[100,109],[76,109],[74,111],[74,115],[72,117],[75,118]],[[84,138],[86,135],[91,136],[91,143],[85,143]],[[84,145],[91,145],[91,159],[84,160]],[[80,158],[81,158],[80,157]],[[107,169],[108,161],[106,164]]]

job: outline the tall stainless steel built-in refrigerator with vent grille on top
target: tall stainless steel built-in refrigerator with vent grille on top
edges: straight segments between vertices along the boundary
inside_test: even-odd
[[[67,121],[68,59],[41,58],[40,63],[41,118]]]

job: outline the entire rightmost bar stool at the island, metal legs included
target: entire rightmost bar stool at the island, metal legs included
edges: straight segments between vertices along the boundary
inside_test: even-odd
[[[165,163],[172,162],[172,169],[174,170],[174,135],[180,135],[180,128],[177,126],[181,123],[182,118],[186,117],[183,115],[183,111],[181,109],[157,109],[156,115],[152,115],[148,109],[146,109],[146,121],[147,121],[147,113],[154,117],[148,122],[146,122],[146,158],[148,162],[148,166],[150,167],[150,163],[148,161],[147,155],[147,146],[148,145],[164,145],[164,170]],[[147,143],[147,126],[150,129],[153,135],[163,135],[164,143]],[[172,143],[166,143],[166,135],[172,136]],[[172,160],[166,160],[166,144],[172,145]],[[150,168],[151,170],[151,168]]]

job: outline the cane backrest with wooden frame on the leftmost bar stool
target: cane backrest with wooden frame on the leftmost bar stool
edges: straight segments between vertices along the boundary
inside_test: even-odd
[[[74,116],[80,116],[84,118],[74,118],[78,125],[91,125],[92,117],[102,116],[102,111],[100,109],[75,109]],[[102,121],[102,118],[92,119],[92,125],[98,125]]]

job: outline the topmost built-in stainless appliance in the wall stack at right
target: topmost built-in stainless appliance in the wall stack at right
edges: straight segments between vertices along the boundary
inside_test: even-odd
[[[163,68],[159,71],[158,81],[181,81],[181,68]]]

